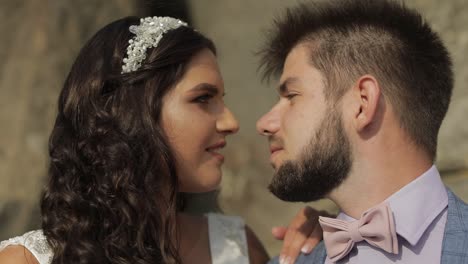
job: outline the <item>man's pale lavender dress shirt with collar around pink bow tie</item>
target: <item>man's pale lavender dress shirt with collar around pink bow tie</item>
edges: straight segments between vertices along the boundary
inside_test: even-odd
[[[435,166],[386,200],[393,211],[399,254],[362,241],[338,263],[440,263],[447,222],[447,190]],[[339,219],[354,220],[340,213]],[[333,262],[327,257],[326,264]]]

